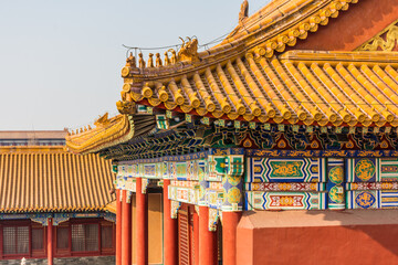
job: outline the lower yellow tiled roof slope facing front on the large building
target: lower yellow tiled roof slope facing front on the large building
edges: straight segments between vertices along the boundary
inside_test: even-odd
[[[248,53],[132,95],[138,103],[214,118],[397,126],[397,66],[398,54],[385,52],[291,51],[272,60]]]

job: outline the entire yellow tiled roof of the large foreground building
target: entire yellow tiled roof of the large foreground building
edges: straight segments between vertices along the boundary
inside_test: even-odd
[[[142,54],[138,62],[130,54],[122,68],[124,85],[122,100],[116,103],[118,110],[133,119],[137,105],[149,106],[147,112],[156,115],[159,129],[167,129],[166,132],[177,126],[168,123],[184,119],[179,114],[188,114],[185,117],[188,125],[180,126],[181,131],[176,135],[160,131],[154,139],[138,139],[129,134],[121,141],[121,135],[125,136],[128,129],[115,129],[117,136],[112,134],[111,127],[98,135],[96,129],[91,129],[69,137],[67,146],[76,152],[101,151],[117,161],[174,156],[195,152],[203,146],[224,145],[227,141],[217,137],[214,140],[199,137],[202,142],[193,140],[198,138],[195,135],[200,124],[212,125],[213,121],[220,127],[234,125],[253,130],[270,128],[269,124],[286,124],[295,125],[292,126],[294,131],[303,127],[310,132],[315,126],[322,134],[332,127],[335,127],[333,131],[342,134],[343,127],[355,132],[354,127],[368,131],[367,127],[375,126],[373,131],[376,132],[383,126],[398,126],[397,53],[358,51],[368,42],[383,46],[396,43],[397,22],[387,31],[387,44],[381,41],[386,38],[383,32],[378,35],[380,40],[370,40],[375,32],[397,19],[396,12],[391,11],[388,19],[375,25],[367,24],[366,29],[362,23],[353,26],[352,21],[358,19],[364,9],[379,7],[377,1],[369,2],[274,0],[248,17],[248,1],[244,0],[238,26],[219,45],[198,53],[198,40],[188,39],[179,51],[171,51],[171,56],[168,51],[161,60],[157,53],[155,63],[154,54],[149,54],[147,62]],[[384,9],[390,6],[394,6],[392,0],[384,2]],[[347,15],[342,14],[343,11]],[[384,17],[375,12],[373,14]],[[344,38],[349,39],[352,32],[355,38],[347,40],[347,49],[317,51],[317,36],[325,36],[329,30],[334,39],[338,39],[337,33],[348,23],[350,28],[344,32]],[[324,25],[327,26],[321,29]],[[367,31],[370,28],[371,31]],[[378,49],[376,44],[374,50]],[[335,46],[323,43],[326,50]],[[127,116],[115,119],[112,128],[122,128]],[[199,116],[201,123],[192,116]],[[188,136],[192,137],[192,142],[182,137],[187,129],[193,130],[193,136]],[[172,145],[168,140],[170,137]],[[126,144],[118,145],[121,142]]]

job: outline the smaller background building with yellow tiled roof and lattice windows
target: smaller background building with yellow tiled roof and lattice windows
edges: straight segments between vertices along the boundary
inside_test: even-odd
[[[66,152],[65,134],[0,131],[0,264],[114,262],[111,165]]]

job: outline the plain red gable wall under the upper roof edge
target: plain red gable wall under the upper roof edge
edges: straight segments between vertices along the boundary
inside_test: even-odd
[[[359,0],[291,50],[353,51],[396,20],[397,0]]]

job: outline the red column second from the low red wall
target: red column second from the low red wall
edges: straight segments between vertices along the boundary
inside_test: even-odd
[[[217,264],[217,234],[209,231],[209,209],[199,206],[199,265],[214,264]]]

